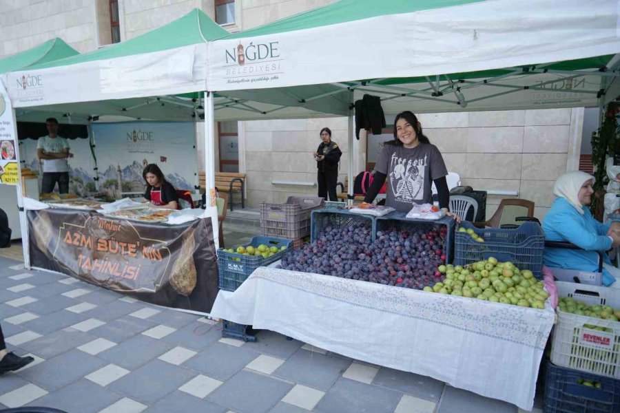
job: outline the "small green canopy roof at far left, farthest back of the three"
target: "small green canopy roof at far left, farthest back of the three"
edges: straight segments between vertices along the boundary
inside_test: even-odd
[[[0,73],[48,63],[65,57],[75,56],[76,54],[79,54],[77,50],[65,43],[63,39],[56,37],[56,39],[48,40],[45,43],[32,47],[32,49],[0,59]]]

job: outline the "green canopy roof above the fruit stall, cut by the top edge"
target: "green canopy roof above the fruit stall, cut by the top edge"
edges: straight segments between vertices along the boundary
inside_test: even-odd
[[[431,10],[451,6],[461,6],[484,0],[340,0],[320,8],[308,10],[285,19],[274,21],[226,36],[225,39],[263,36],[265,34],[292,32],[318,28],[321,26],[345,23],[388,14],[400,14]]]

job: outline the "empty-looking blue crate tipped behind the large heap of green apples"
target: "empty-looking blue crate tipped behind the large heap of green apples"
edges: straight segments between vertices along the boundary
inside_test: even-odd
[[[495,257],[499,262],[512,262],[519,270],[530,270],[541,279],[545,234],[536,222],[524,222],[516,229],[482,229],[463,221],[460,227],[473,229],[484,242],[477,242],[468,233],[455,231],[455,265]]]

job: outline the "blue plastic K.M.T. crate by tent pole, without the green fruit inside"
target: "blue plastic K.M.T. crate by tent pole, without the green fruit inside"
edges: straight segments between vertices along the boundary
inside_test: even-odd
[[[293,241],[283,238],[274,237],[252,237],[247,246],[259,246],[265,244],[267,246],[276,246],[278,250],[282,246],[291,248]],[[286,250],[285,250],[286,251]],[[276,262],[282,258],[285,251],[278,251],[271,257],[263,258],[260,255],[243,255],[238,253],[229,253],[223,248],[218,249],[218,273],[220,278],[220,290],[234,291],[236,290],[251,273],[260,266],[268,266],[272,262]]]

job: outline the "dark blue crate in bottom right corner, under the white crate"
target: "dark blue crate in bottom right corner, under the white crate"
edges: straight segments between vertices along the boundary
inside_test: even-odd
[[[545,413],[619,413],[620,380],[555,366],[547,361]],[[600,383],[597,387],[583,381]]]

